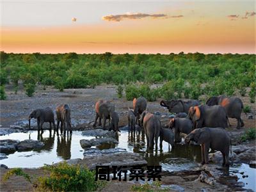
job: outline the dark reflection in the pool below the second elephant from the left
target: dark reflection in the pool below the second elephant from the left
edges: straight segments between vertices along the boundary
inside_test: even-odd
[[[71,157],[71,138],[72,134],[67,136],[58,136],[57,139],[57,156],[63,157],[63,159],[67,160]]]

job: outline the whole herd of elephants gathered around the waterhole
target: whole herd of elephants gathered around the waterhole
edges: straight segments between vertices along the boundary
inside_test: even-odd
[[[231,140],[225,127],[230,126],[228,118],[237,119],[237,129],[244,126],[241,119],[243,111],[243,102],[238,97],[211,97],[206,104],[200,104],[199,100],[161,100],[160,105],[167,108],[170,113],[176,115],[170,119],[168,128],[161,126],[158,116],[150,113],[147,108],[147,100],[139,97],[133,100],[133,109],[128,108],[127,118],[129,129],[135,131],[136,124],[145,132],[147,139],[147,148],[157,150],[157,141],[160,137],[160,147],[163,147],[163,140],[174,147],[174,143],[181,141],[180,133],[187,134],[185,142],[195,141],[201,145],[202,164],[209,163],[209,148],[220,150],[223,155],[223,166],[228,166],[228,155],[231,148]],[[95,122],[96,126],[99,118],[99,125],[106,128],[106,120],[109,121],[109,131],[113,130],[116,134],[119,131],[118,113],[115,111],[115,105],[107,100],[98,100],[95,104]],[[61,134],[72,132],[70,120],[70,108],[67,104],[60,105],[56,108],[57,129],[54,124],[54,113],[51,108],[35,109],[29,115],[29,129],[31,118],[37,119],[38,131],[42,130],[44,122],[53,124],[54,130],[57,131],[61,123]],[[103,124],[102,124],[103,120]],[[173,134],[174,130],[174,134]]]

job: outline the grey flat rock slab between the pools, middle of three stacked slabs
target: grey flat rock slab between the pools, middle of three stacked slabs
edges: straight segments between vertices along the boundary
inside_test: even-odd
[[[118,141],[115,140],[114,138],[97,138],[97,139],[92,139],[92,140],[80,140],[80,145],[82,148],[90,148],[92,146],[99,146],[104,143],[113,143],[117,144]]]

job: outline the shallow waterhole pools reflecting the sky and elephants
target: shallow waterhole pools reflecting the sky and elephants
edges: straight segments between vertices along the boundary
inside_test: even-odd
[[[83,148],[79,141],[81,139],[90,140],[92,136],[82,136],[81,131],[73,131],[69,136],[57,136],[52,131],[44,131],[43,134],[38,134],[37,131],[18,132],[5,136],[0,136],[0,140],[40,140],[45,143],[44,147],[39,150],[28,152],[15,152],[8,155],[8,159],[0,160],[0,164],[6,166],[21,167],[21,168],[36,168],[44,164],[58,163],[64,159],[83,159]],[[158,150],[147,152],[145,135],[142,132],[136,131],[121,131],[117,145],[101,145],[100,149],[120,147],[126,148],[128,152],[136,152],[145,157],[148,165],[161,165],[163,170],[177,171],[188,170],[198,166],[201,161],[200,147],[195,145],[175,145],[170,147],[168,143],[163,141],[163,149],[158,147]],[[159,144],[158,144],[159,145]],[[244,177],[239,172],[244,172]],[[255,190],[255,169],[250,168],[247,164],[235,164],[230,168],[230,173],[235,173],[240,181],[243,181],[245,188]]]

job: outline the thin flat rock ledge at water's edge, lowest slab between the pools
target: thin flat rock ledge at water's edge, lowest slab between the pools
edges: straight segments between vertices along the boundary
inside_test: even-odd
[[[99,148],[89,148],[88,150],[84,150],[84,158],[116,153],[127,153],[127,150],[125,148],[108,148],[103,150],[99,150]]]

